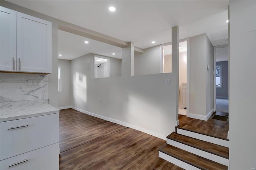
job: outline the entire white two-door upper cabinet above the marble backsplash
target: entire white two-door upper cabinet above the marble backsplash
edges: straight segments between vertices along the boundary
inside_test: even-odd
[[[51,73],[52,72],[52,23],[33,17],[33,16],[22,14],[20,12],[15,12],[12,10],[11,11],[14,12],[13,15],[15,19],[8,20],[6,13],[9,11],[9,9],[0,7],[0,10],[1,10],[0,71],[17,71],[17,72],[26,72],[26,73]],[[11,18],[11,16],[9,16],[9,18]],[[9,22],[6,22],[5,20]],[[4,23],[3,26],[2,26],[2,23]],[[10,28],[13,25],[14,25],[14,30],[13,29],[11,30]],[[10,34],[6,34],[8,31],[10,32]],[[3,39],[2,39],[2,35],[4,37]],[[13,35],[15,36],[15,41],[13,40]],[[12,45],[13,41],[16,47],[13,47]],[[10,48],[10,51],[7,51],[7,47]],[[4,50],[2,51],[2,49]]]

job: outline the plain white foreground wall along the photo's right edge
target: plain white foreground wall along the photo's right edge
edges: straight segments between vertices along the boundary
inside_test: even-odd
[[[230,0],[230,170],[256,168],[255,16],[255,0]]]

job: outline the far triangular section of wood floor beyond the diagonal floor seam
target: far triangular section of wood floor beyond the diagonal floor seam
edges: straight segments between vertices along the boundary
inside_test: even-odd
[[[60,152],[126,128],[74,109],[60,110],[59,124]]]

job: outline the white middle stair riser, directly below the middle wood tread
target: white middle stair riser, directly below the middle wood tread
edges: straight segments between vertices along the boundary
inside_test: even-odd
[[[192,154],[196,154],[198,156],[202,156],[206,159],[212,160],[214,162],[218,162],[220,164],[226,165],[228,166],[228,159],[223,158],[221,156],[215,155],[215,154],[211,154],[209,152],[194,148],[192,146],[188,146],[186,144],[182,144],[180,142],[177,142],[175,140],[171,140],[171,139],[167,139],[167,144],[170,144],[172,146],[175,146],[177,148],[180,148],[182,150],[186,150]]]

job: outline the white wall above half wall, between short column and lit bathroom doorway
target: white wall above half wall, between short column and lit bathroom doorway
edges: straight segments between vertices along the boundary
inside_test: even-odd
[[[144,53],[134,53],[134,75],[161,73],[160,46],[144,49]]]

